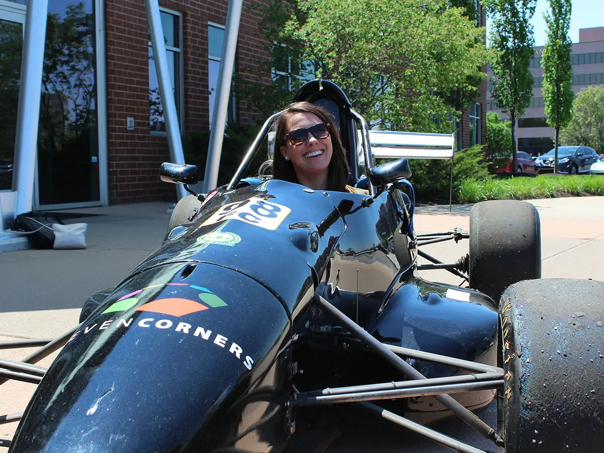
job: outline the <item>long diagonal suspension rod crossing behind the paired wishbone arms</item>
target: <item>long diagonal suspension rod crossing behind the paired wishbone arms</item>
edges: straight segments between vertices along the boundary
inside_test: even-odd
[[[385,347],[381,342],[379,342],[379,340],[371,336],[367,331],[362,329],[361,326],[356,324],[348,316],[344,315],[344,313],[333,306],[329,301],[316,293],[315,302],[327,313],[330,313],[330,315],[337,318],[338,321],[349,329],[353,335],[361,339],[371,349],[375,350],[379,355],[382,356],[382,358],[384,358],[388,363],[393,365],[393,367],[397,368],[397,370],[401,371],[407,377],[410,377],[410,379],[426,379],[422,373],[417,371],[403,359],[399,358],[399,356]],[[477,432],[480,432],[480,434],[486,437],[486,439],[491,439],[493,442],[498,444],[503,442],[501,437],[496,434],[493,428],[484,423],[482,420],[478,419],[474,414],[464,408],[463,405],[454,400],[451,396],[447,394],[438,394],[435,395],[434,398],[442,403],[443,406],[451,410],[452,413],[457,415],[464,423],[474,428]]]

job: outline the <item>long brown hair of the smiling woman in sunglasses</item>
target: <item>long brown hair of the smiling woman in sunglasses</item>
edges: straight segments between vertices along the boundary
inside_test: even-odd
[[[346,159],[346,152],[342,141],[339,138],[339,131],[333,122],[330,112],[310,102],[294,102],[289,104],[281,114],[275,119],[277,132],[275,133],[274,156],[272,160],[272,172],[274,179],[295,182],[298,184],[298,177],[291,161],[286,161],[281,154],[281,146],[285,146],[285,136],[289,132],[288,120],[297,113],[310,113],[316,115],[321,121],[329,127],[329,135],[332,139],[332,160],[329,162],[329,187],[327,190],[346,191],[346,184],[349,179],[350,167]]]

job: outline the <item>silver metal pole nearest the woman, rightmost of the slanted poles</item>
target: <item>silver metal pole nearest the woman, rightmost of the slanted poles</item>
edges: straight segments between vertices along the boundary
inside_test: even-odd
[[[237,36],[239,35],[239,21],[243,0],[230,0],[226,12],[225,36],[222,42],[222,56],[218,70],[218,85],[216,86],[216,100],[210,130],[210,144],[208,144],[208,159],[205,163],[204,193],[216,187],[218,182],[218,169],[220,167],[220,152],[222,139],[225,133],[228,100],[233,80],[235,67],[235,51],[237,50]]]

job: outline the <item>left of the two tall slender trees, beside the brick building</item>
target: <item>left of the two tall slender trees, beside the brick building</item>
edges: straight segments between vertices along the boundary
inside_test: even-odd
[[[524,114],[533,95],[533,75],[528,70],[535,53],[535,38],[530,19],[535,14],[536,0],[485,0],[492,19],[491,47],[495,51],[493,98],[510,117],[512,131],[512,169],[516,158],[516,121]]]

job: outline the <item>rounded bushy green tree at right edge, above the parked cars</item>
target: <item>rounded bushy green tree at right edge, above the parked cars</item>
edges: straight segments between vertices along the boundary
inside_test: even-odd
[[[564,144],[591,146],[604,153],[604,86],[588,86],[577,94],[560,138]]]

